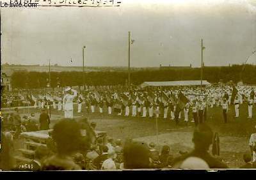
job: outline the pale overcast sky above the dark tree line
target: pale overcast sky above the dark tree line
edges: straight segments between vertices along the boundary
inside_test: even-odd
[[[120,7],[2,8],[1,61],[13,64],[206,66],[243,63],[256,50],[255,0],[123,0]],[[70,63],[72,58],[72,63]],[[256,54],[248,63],[256,64]]]

